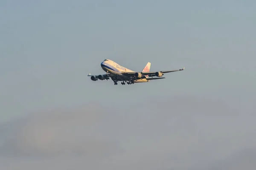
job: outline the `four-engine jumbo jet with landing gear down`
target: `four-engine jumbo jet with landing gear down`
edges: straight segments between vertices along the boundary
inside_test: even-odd
[[[98,79],[108,80],[111,78],[114,82],[114,85],[117,85],[117,82],[119,81],[121,82],[122,85],[125,85],[125,82],[128,85],[131,85],[139,82],[149,82],[150,80],[155,80],[155,79],[165,79],[165,77],[162,77],[165,73],[183,71],[185,69],[184,67],[178,70],[149,72],[150,66],[151,66],[151,63],[148,62],[141,72],[136,72],[117,64],[111,59],[105,59],[101,63],[101,67],[106,72],[106,74],[91,75],[89,73],[87,76],[89,76],[93,81],[97,81]]]

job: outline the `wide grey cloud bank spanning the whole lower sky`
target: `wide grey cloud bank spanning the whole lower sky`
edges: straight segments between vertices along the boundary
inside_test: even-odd
[[[172,96],[128,108],[85,105],[34,113],[1,125],[0,169],[227,167],[256,147],[256,116],[240,104]]]

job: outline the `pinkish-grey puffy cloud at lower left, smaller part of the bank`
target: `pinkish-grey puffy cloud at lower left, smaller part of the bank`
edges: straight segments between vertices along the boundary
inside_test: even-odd
[[[27,115],[3,126],[0,154],[7,156],[102,155],[113,143],[98,128],[103,112],[85,109]]]

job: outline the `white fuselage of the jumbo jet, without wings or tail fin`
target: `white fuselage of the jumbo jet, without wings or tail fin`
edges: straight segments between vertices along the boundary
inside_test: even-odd
[[[130,80],[130,77],[127,77],[125,75],[122,74],[122,72],[134,72],[128,68],[125,68],[119,64],[117,64],[116,62],[113,62],[110,59],[105,59],[102,63],[101,63],[101,67],[104,71],[106,71],[109,74],[112,74],[114,77],[117,77],[118,79],[125,79],[125,80]],[[138,80],[134,80],[134,82],[148,82],[149,80],[147,79],[138,79]]]

